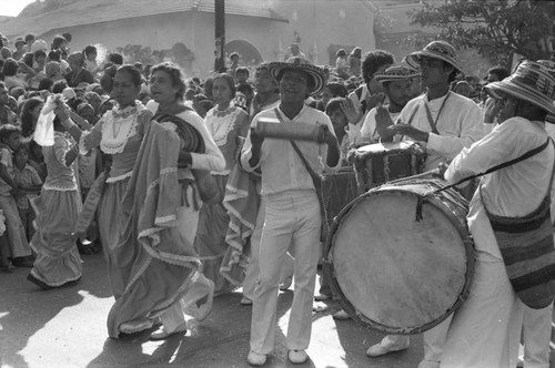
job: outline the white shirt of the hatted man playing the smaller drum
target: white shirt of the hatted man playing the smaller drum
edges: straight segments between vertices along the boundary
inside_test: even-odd
[[[445,99],[447,101],[443,105]],[[434,122],[437,121],[436,127],[440,134],[432,133],[424,104],[430,106]],[[442,105],[443,109],[441,109]],[[484,135],[482,113],[478,105],[471,99],[447,92],[445,96],[428,101],[427,95],[422,94],[408,101],[401,111],[400,121],[407,123],[416,106],[418,111],[414,115],[412,125],[417,130],[430,132],[427,143],[418,142],[426,149],[425,171],[436,168],[441,162],[453,160],[463,147],[470,146]],[[442,111],[437,119],[440,109]],[[408,137],[405,140],[412,141]]]

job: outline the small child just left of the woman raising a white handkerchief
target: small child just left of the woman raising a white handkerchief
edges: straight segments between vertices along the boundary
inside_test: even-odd
[[[19,187],[14,197],[21,223],[26,229],[27,241],[29,242],[34,234],[32,225],[34,212],[29,201],[37,197],[40,193],[42,180],[37,171],[29,165],[29,149],[26,145],[20,145],[13,152],[13,180]]]

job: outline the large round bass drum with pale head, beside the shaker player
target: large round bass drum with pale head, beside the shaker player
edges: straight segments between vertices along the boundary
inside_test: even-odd
[[[324,272],[359,323],[420,334],[467,296],[474,269],[468,203],[437,180],[384,184],[345,206],[330,229]]]

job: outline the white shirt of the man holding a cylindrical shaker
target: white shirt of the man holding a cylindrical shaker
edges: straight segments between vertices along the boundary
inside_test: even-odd
[[[316,109],[304,105],[301,112],[292,120],[287,119],[283,112],[281,112],[281,115],[285,122],[326,125],[330,133],[335,135],[330,117]],[[273,109],[264,110],[254,116],[251,127],[255,127],[261,117],[274,120],[278,116]],[[337,160],[337,164],[333,167],[326,164],[326,144],[301,141],[296,141],[295,143],[316,174],[322,174],[324,170],[326,173],[334,172],[341,166],[341,160]],[[251,166],[249,163],[249,160],[252,157],[251,149],[251,132],[249,131],[241,154],[241,165],[248,172],[253,172],[258,167],[261,167],[263,196],[287,191],[314,191],[314,184],[306,167],[287,140],[265,139],[262,143],[260,161],[255,166]]]

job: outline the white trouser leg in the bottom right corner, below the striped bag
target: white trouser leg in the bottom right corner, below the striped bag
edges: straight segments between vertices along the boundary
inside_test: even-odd
[[[553,304],[543,309],[524,306],[524,368],[549,368],[552,319]]]

